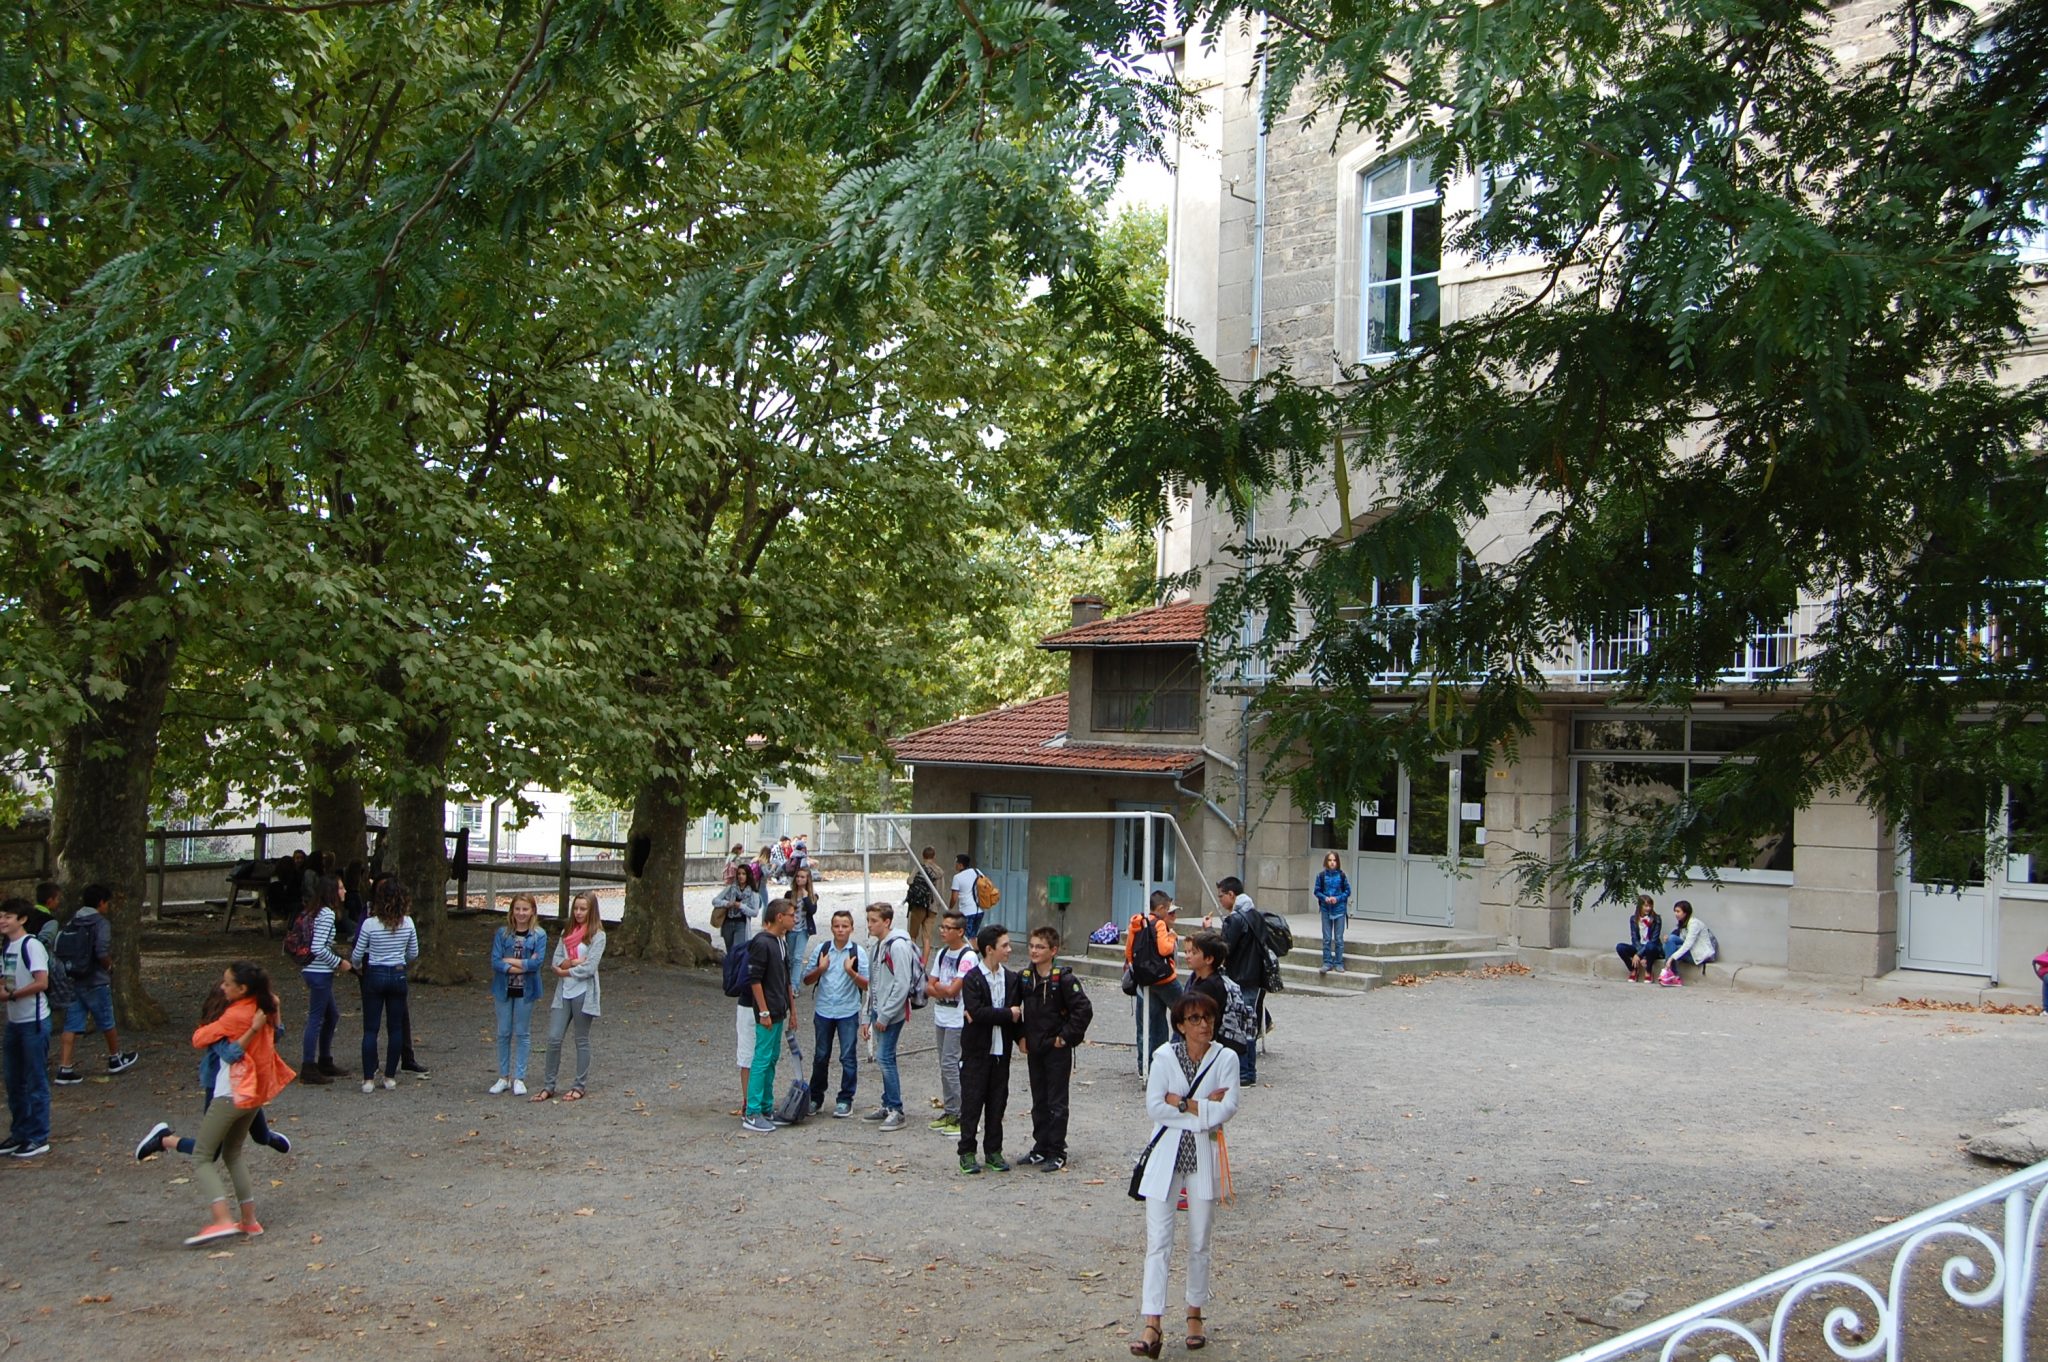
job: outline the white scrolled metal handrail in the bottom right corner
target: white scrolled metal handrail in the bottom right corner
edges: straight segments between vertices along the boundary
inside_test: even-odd
[[[1755,1362],[1784,1362],[1786,1329],[1794,1309],[1815,1290],[1837,1288],[1862,1294],[1870,1303],[1872,1323],[1866,1325],[1858,1309],[1831,1305],[1821,1319],[1821,1339],[1829,1352],[1845,1362],[1864,1362],[1884,1356],[1896,1360],[1905,1356],[1905,1288],[1913,1268],[1913,1255],[1935,1239],[1956,1239],[1954,1251],[1942,1264],[1942,1290],[1950,1301],[1968,1309],[2003,1307],[2003,1358],[2005,1362],[2025,1362],[2028,1356],[2028,1313],[2034,1305],[2034,1272],[2040,1266],[2042,1217],[2048,1215],[2048,1163],[2023,1167],[2017,1174],[1966,1192],[1939,1206],[1929,1206],[1909,1215],[1894,1225],[1876,1229],[1860,1239],[1815,1253],[1776,1272],[1767,1272],[1753,1282],[1724,1290],[1710,1301],[1665,1315],[1659,1321],[1620,1333],[1606,1344],[1575,1352],[1563,1362],[1610,1362],[1642,1348],[1659,1346],[1661,1362],[1671,1362],[1679,1348],[1698,1350],[1700,1335],[1716,1335],[1710,1352],[1716,1360],[1733,1358],[1720,1337],[1737,1339]],[[2032,1196],[2030,1196],[2032,1194]],[[1964,1212],[2003,1202],[2003,1243],[1993,1239],[1982,1227],[1960,1221]],[[2032,1204],[2030,1204],[2032,1202]],[[1898,1247],[1892,1258],[1886,1286],[1847,1272],[1851,1264],[1880,1249]],[[1784,1292],[1772,1311],[1769,1335],[1759,1337],[1755,1329],[1733,1317],[1733,1309],[1761,1296]],[[1810,1354],[1810,1339],[1802,1356]]]

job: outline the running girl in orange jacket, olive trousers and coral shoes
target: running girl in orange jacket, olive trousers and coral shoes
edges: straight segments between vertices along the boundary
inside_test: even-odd
[[[233,1040],[242,1047],[242,1059],[219,1067],[213,1088],[215,1100],[199,1124],[199,1141],[193,1147],[193,1180],[207,1194],[213,1219],[184,1241],[188,1247],[233,1235],[254,1239],[262,1233],[262,1225],[256,1223],[250,1176],[242,1167],[242,1147],[248,1143],[256,1112],[283,1092],[285,1083],[299,1077],[276,1055],[279,1002],[270,989],[270,975],[260,965],[236,961],[221,975],[221,995],[227,999],[227,1008],[215,1018],[201,1020],[199,1030],[193,1032],[193,1049],[203,1051],[217,1040]],[[227,1165],[225,1178],[221,1178],[221,1163]],[[233,1200],[229,1200],[229,1184],[233,1184]]]

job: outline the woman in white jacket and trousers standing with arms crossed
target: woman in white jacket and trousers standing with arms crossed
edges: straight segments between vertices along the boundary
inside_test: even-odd
[[[1169,1014],[1178,1040],[1153,1053],[1145,1112],[1159,1135],[1145,1153],[1139,1194],[1145,1198],[1145,1288],[1139,1296],[1143,1331],[1130,1356],[1157,1358],[1165,1315],[1165,1270],[1174,1249],[1174,1212],[1188,1202],[1188,1348],[1208,1344],[1202,1307],[1208,1303],[1208,1231],[1229,1186],[1223,1122],[1237,1114],[1237,1055],[1217,1040],[1217,1002],[1184,993]]]

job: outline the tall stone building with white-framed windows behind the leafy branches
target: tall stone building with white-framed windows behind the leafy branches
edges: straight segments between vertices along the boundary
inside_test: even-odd
[[[1843,8],[1837,49],[1849,59],[1870,8]],[[1534,260],[1485,264],[1438,250],[1446,219],[1485,193],[1473,178],[1444,182],[1401,145],[1358,135],[1333,145],[1327,121],[1280,119],[1262,133],[1251,102],[1255,33],[1231,29],[1214,47],[1190,41],[1169,55],[1206,115],[1178,147],[1167,303],[1225,379],[1251,383],[1278,363],[1298,377],[1335,379],[1339,367],[1395,350],[1432,311],[1477,315],[1534,268]],[[2042,258],[2044,244],[2025,254]],[[2044,365],[2036,330],[2013,373]],[[1370,502],[1364,490],[1352,504]],[[1341,528],[1337,514],[1333,494],[1305,506],[1276,498],[1255,510],[1249,533],[1329,537]],[[1530,541],[1532,516],[1526,498],[1503,498],[1470,526],[1470,555],[1511,561]],[[1161,537],[1161,567],[1200,569],[1196,598],[1206,600],[1243,535],[1196,496]],[[1374,604],[1419,606],[1432,584],[1380,582],[1376,594]],[[1354,916],[1483,932],[1556,965],[1565,952],[1606,952],[1612,965],[1624,909],[1573,913],[1561,899],[1530,901],[1509,858],[1567,850],[1624,784],[1681,791],[1769,719],[1774,703],[1753,680],[1794,659],[1812,623],[1808,606],[1759,631],[1690,713],[1612,709],[1608,678],[1640,649],[1640,633],[1581,639],[1552,659],[1542,719],[1516,762],[1473,752],[1427,770],[1391,770],[1380,797],[1341,825],[1329,809],[1298,809],[1257,780],[1243,713],[1264,678],[1217,676],[1200,733],[1186,746],[1227,756],[1245,778],[1210,760],[1206,809],[1182,805],[1184,827],[1212,875],[1241,868],[1270,909],[1311,911],[1309,883],[1333,848],[1356,885]],[[2005,807],[2030,815],[2023,801]],[[2013,856],[1987,864],[1962,893],[1939,891],[1915,879],[1894,829],[1847,797],[1802,809],[1747,864],[1716,872],[1718,885],[1696,881],[1659,901],[1690,897],[1733,965],[1831,979],[1939,971],[2032,989],[2028,963],[2048,946],[2044,860]]]

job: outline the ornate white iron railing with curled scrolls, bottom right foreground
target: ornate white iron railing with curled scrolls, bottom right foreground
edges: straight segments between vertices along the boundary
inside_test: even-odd
[[[1815,1337],[1843,1362],[1898,1362],[1907,1352],[1913,1288],[1939,1290],[1954,1305],[2001,1313],[2005,1362],[2028,1356],[2028,1315],[2048,1215],[2048,1163],[2001,1178],[1896,1225],[1780,1268],[1712,1301],[1630,1329],[1565,1362],[1657,1356],[1681,1350],[1710,1362],[1784,1362],[1817,1356]],[[1946,1253],[1929,1278],[1923,1249]],[[1868,1262],[1866,1262],[1868,1260]],[[1745,1305],[1769,1307],[1767,1319]],[[1810,1309],[1802,1309],[1810,1307]],[[1804,1329],[1796,1331],[1794,1325]],[[1817,1325],[1817,1329],[1815,1329]]]

